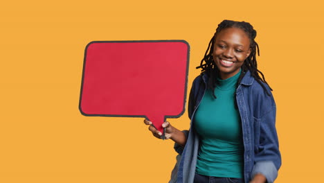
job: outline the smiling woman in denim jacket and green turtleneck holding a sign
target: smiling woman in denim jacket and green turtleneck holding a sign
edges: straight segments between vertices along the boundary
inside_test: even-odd
[[[190,130],[163,123],[166,139],[176,143],[179,153],[170,182],[276,179],[281,165],[276,104],[257,69],[255,36],[253,26],[244,21],[224,20],[218,25],[190,91]],[[150,121],[144,123],[161,138]]]

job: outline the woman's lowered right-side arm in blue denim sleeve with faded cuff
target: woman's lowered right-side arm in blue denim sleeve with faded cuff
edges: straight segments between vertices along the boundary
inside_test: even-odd
[[[264,91],[255,98],[255,119],[257,119],[259,130],[255,134],[254,144],[254,166],[251,177],[263,175],[267,182],[276,180],[278,170],[281,166],[281,155],[279,150],[278,134],[276,130],[276,103],[267,87],[270,96]]]

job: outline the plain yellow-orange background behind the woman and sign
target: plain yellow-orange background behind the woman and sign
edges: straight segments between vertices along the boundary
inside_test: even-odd
[[[273,88],[282,168],[276,182],[324,175],[321,1],[3,1],[0,6],[0,182],[168,182],[172,141],[143,119],[82,116],[85,46],[94,40],[186,40],[195,67],[223,19],[258,31]],[[187,112],[170,122],[189,125]]]

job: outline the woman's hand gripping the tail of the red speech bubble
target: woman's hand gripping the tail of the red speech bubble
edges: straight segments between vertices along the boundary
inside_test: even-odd
[[[152,132],[154,137],[161,139],[162,133],[154,128],[151,121],[144,119],[144,123],[145,125],[150,125],[149,130]],[[172,141],[178,143],[180,146],[186,145],[187,137],[183,132],[174,128],[168,121],[165,121],[162,124],[162,127],[165,128],[165,139],[172,139]]]

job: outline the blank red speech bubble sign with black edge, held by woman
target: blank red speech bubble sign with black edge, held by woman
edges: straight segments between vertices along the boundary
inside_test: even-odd
[[[163,132],[185,110],[189,44],[183,40],[90,42],[84,53],[80,112],[145,117]]]

